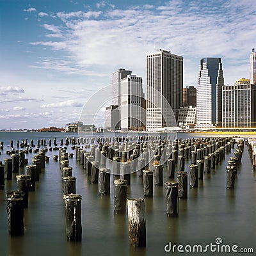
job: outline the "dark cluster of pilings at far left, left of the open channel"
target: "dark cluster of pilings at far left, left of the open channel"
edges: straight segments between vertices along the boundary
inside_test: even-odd
[[[27,147],[26,140],[22,141],[22,147]],[[8,212],[8,230],[11,236],[20,236],[24,234],[24,208],[28,208],[29,191],[35,191],[36,181],[39,181],[40,173],[45,168],[45,161],[49,158],[45,156],[47,149],[42,148],[38,155],[32,159],[32,164],[26,165],[24,150],[19,150],[19,154],[11,154],[10,159],[4,159],[4,164],[0,164],[0,180],[1,187],[4,188],[4,179],[11,180],[12,173],[22,172],[26,167],[25,174],[16,175],[17,189],[15,191],[7,191],[8,203],[6,210]],[[32,152],[32,151],[29,151]],[[4,173],[4,175],[3,175]]]

